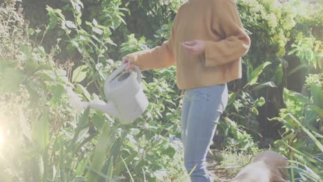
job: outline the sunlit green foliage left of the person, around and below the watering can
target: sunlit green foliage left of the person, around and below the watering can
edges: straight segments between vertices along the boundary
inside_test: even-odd
[[[14,3],[5,8],[12,8],[10,10],[14,11],[13,6]],[[75,16],[79,13],[77,6],[73,7]],[[10,56],[13,61],[1,61],[1,105],[21,105],[21,110],[18,113],[10,112],[12,108],[3,109],[3,113],[8,113],[8,116],[1,119],[1,125],[5,119],[11,118],[12,125],[3,126],[3,138],[11,141],[16,133],[21,133],[21,137],[17,142],[8,143],[11,146],[8,150],[1,151],[1,176],[8,181],[119,181],[124,178],[136,181],[179,181],[185,175],[181,167],[184,165],[177,165],[182,163],[181,147],[178,142],[166,138],[170,133],[165,133],[169,131],[176,134],[178,131],[174,125],[161,125],[154,121],[158,118],[155,117],[155,112],[160,113],[164,100],[156,99],[154,103],[158,104],[150,105],[150,111],[146,114],[146,119],[151,120],[149,124],[141,118],[140,124],[127,126],[120,126],[101,112],[86,110],[79,117],[70,108],[65,90],[66,87],[74,87],[72,83],[75,83],[76,92],[84,94],[84,99],[96,100],[101,97],[95,93],[90,94],[81,83],[86,83],[84,81],[96,73],[101,77],[97,79],[100,88],[106,77],[104,74],[114,68],[106,68],[107,65],[102,68],[97,60],[94,61],[94,54],[90,51],[95,50],[96,54],[100,54],[100,46],[104,48],[109,37],[102,36],[102,43],[95,42],[92,40],[95,39],[93,35],[101,30],[101,26],[96,25],[95,21],[88,23],[92,27],[90,34],[77,27],[77,17],[73,23],[66,21],[61,10],[48,10],[51,18],[48,29],[59,23],[66,35],[72,34],[72,30],[77,32],[68,40],[69,47],[83,52],[88,64],[70,72],[68,79],[67,72],[55,66],[52,55],[46,54],[39,45],[33,47],[28,43],[28,37],[23,39],[26,45],[21,46],[20,41],[14,44],[19,48],[17,54],[21,56],[17,58],[17,54],[12,54]],[[19,16],[22,17],[21,14]],[[8,17],[1,17],[1,22],[6,18]],[[12,26],[16,23],[12,23]],[[95,29],[97,27],[99,28]],[[81,39],[82,36],[84,39]],[[7,39],[11,40],[11,37]],[[111,64],[117,66],[115,63]],[[161,95],[160,92],[163,92],[167,95],[165,90],[157,88],[160,87],[156,86],[148,94],[156,92],[155,94]],[[7,100],[6,97],[10,99]],[[23,101],[18,104],[19,99]],[[33,106],[29,110],[28,102]],[[178,115],[175,114],[178,112],[175,109],[172,112],[172,116],[168,118],[175,116],[173,119],[176,121]],[[20,117],[14,118],[17,115]],[[12,150],[19,154],[10,154]],[[174,161],[173,157],[180,161]],[[12,163],[13,161],[17,163]],[[31,170],[28,170],[30,167]]]

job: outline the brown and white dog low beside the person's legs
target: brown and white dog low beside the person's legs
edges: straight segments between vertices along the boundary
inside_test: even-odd
[[[232,182],[282,182],[286,180],[286,158],[277,152],[265,151],[257,154],[253,162],[246,165]]]

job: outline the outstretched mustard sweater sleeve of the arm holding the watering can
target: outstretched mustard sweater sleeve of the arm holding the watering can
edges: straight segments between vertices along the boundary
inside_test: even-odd
[[[173,56],[173,39],[174,39],[174,27],[170,32],[170,38],[168,41],[164,41],[161,46],[157,46],[150,50],[143,50],[128,54],[126,57],[130,59],[132,63],[135,63],[141,71],[166,68],[175,64],[175,58]]]

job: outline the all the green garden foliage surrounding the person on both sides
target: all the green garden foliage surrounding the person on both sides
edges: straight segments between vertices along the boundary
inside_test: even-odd
[[[37,6],[32,1],[26,0]],[[237,1],[252,46],[244,57],[243,79],[228,84],[230,98],[213,145],[237,155],[273,146],[291,159],[291,181],[315,181],[322,175],[320,2]],[[28,27],[17,1],[3,3],[0,178],[183,180],[187,174],[177,139],[182,99],[175,66],[144,72],[148,110],[129,125],[99,111],[79,113],[66,95],[66,88],[73,88],[84,101],[104,100],[104,79],[120,65],[118,60],[168,39],[182,3],[50,0],[44,3],[44,29]],[[288,89],[300,72],[306,75],[302,93]],[[268,118],[275,121],[268,123]],[[277,126],[271,131],[275,137],[266,134],[269,125]],[[273,140],[269,137],[275,143],[266,143]]]

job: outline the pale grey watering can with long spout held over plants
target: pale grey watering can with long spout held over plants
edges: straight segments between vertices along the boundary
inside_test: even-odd
[[[120,74],[126,69],[126,66],[126,64],[121,65],[104,82],[104,94],[108,99],[108,103],[104,105],[82,102],[74,92],[69,92],[68,90],[71,105],[79,109],[90,106],[92,109],[101,110],[112,117],[117,117],[122,124],[135,121],[148,107],[148,99],[141,88],[141,72],[139,68],[137,65],[134,66],[137,72],[136,78],[132,71]]]

